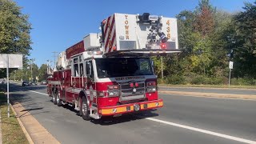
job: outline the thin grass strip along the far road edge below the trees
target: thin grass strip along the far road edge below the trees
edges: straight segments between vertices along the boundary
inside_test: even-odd
[[[256,89],[256,86],[230,86],[229,87],[227,85],[171,85],[171,84],[158,84],[158,86]]]

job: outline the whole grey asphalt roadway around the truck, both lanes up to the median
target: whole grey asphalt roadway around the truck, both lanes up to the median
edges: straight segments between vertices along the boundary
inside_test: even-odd
[[[50,102],[44,95],[46,86],[11,85],[10,90],[13,102],[20,102],[61,143],[256,141],[255,101],[160,94],[164,100],[162,109],[87,122],[70,106],[58,107]],[[242,142],[239,138],[243,138]]]

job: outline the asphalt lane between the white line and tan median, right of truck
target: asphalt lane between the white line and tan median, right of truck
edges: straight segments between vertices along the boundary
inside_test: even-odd
[[[256,102],[160,94],[158,119],[256,140]]]

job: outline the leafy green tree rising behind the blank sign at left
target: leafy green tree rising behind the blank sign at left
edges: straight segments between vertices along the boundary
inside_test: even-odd
[[[21,7],[10,0],[0,0],[0,54],[23,54],[24,58],[32,49],[28,15],[22,14]],[[0,70],[0,77],[5,75]]]

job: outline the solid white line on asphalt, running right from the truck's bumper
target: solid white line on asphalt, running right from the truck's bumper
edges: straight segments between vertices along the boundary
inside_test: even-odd
[[[200,133],[210,134],[210,135],[214,135],[214,136],[221,137],[221,138],[227,138],[227,139],[231,139],[231,140],[238,141],[238,142],[256,144],[255,141],[251,141],[251,140],[244,139],[244,138],[233,137],[233,136],[230,136],[230,135],[227,135],[227,134],[220,134],[220,133],[216,133],[216,132],[210,131],[210,130],[202,130],[202,129],[198,129],[198,128],[191,127],[191,126],[185,126],[185,125],[181,125],[181,124],[174,123],[174,122],[162,121],[162,120],[156,119],[156,118],[145,118],[145,119],[150,120],[150,121],[154,121],[154,122],[161,122],[161,123],[164,123],[164,124],[167,124],[167,125],[170,125],[170,126],[181,127],[183,129],[187,129],[187,130],[194,130],[194,131],[198,131]]]

